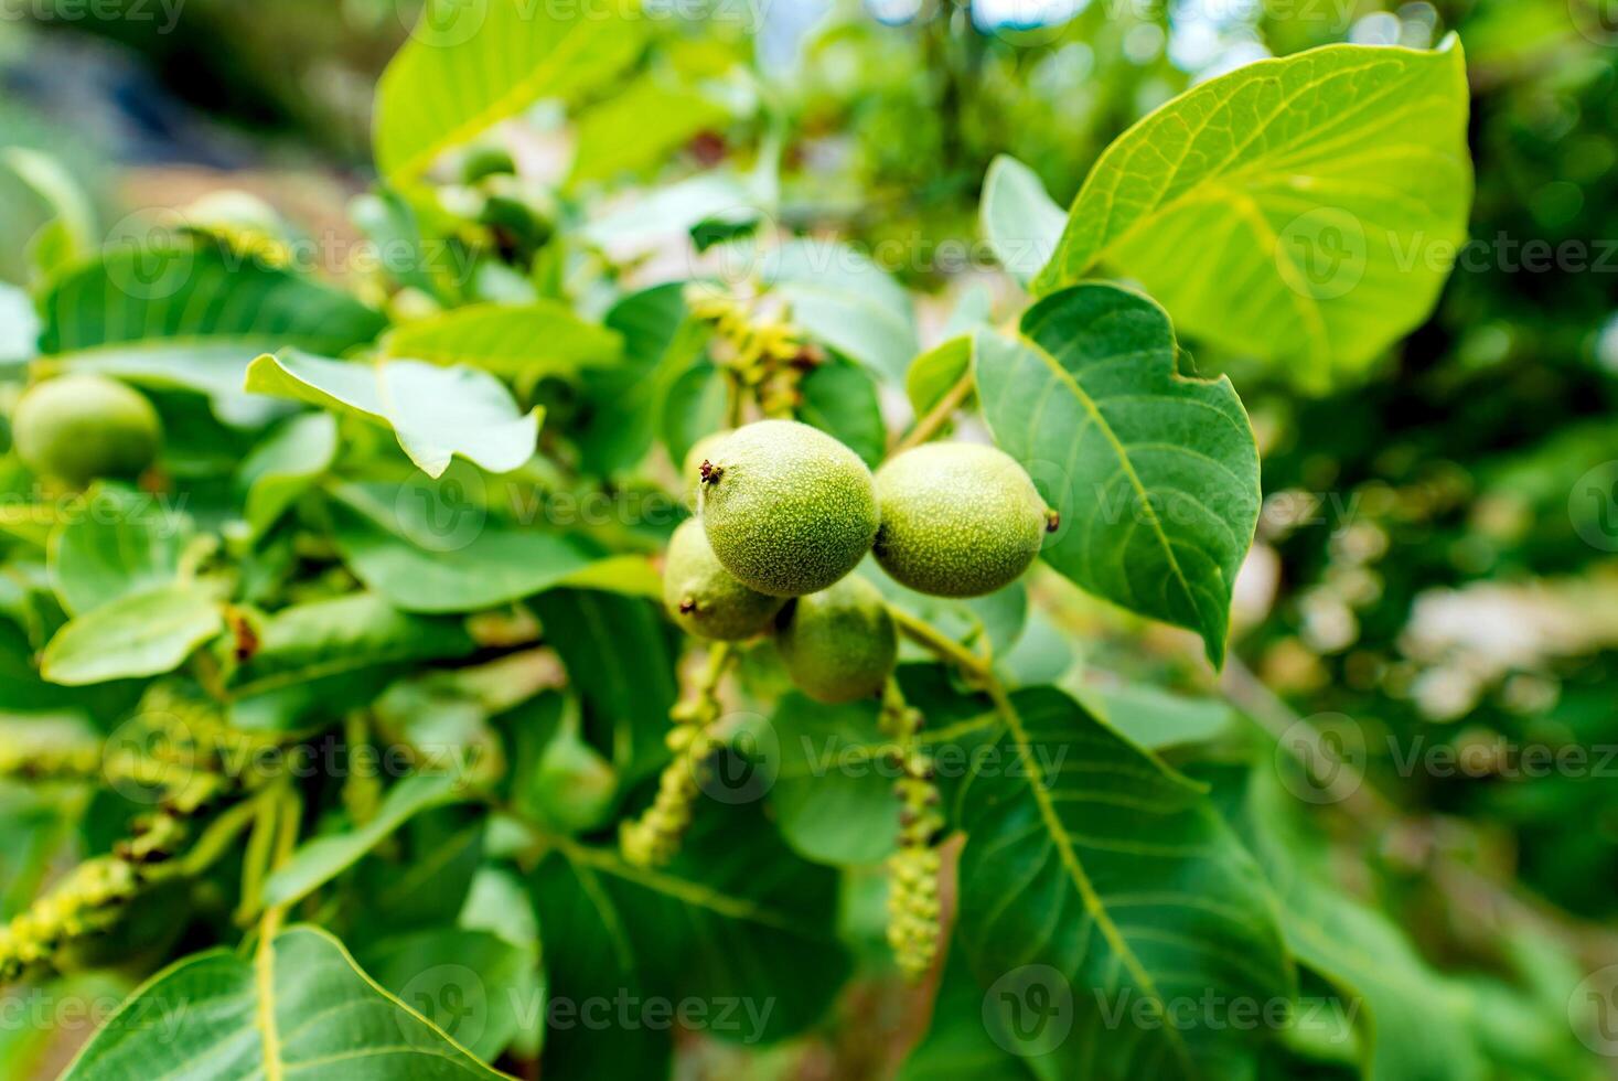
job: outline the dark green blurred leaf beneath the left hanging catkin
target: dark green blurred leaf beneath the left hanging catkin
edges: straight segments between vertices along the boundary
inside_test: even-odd
[[[616,851],[558,841],[531,879],[553,1015],[545,1076],[665,1076],[668,1031],[641,1003],[684,1003],[689,1028],[757,1045],[817,1023],[848,974],[837,874],[796,859],[757,804],[704,799],[681,854],[631,867]],[[629,998],[612,1032],[587,1008]],[[557,1018],[568,1024],[555,1024]]]

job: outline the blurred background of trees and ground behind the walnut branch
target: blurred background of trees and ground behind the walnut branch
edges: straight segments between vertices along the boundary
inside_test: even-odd
[[[100,19],[73,0],[3,8],[31,16],[0,21],[0,142],[57,155],[105,222],[233,188],[309,235],[351,230],[346,202],[371,181],[371,89],[409,5],[118,3],[126,16]],[[1113,136],[1199,79],[1333,40],[1461,34],[1474,243],[1427,325],[1315,398],[1186,343],[1199,374],[1233,377],[1264,451],[1226,689],[1272,710],[1272,727],[1348,719],[1364,791],[1379,795],[1322,817],[1359,892],[1427,960],[1518,974],[1524,950],[1544,964],[1618,960],[1602,926],[1618,914],[1618,761],[1592,752],[1547,777],[1518,761],[1526,746],[1618,746],[1618,523],[1576,498],[1618,458],[1618,34],[1579,0],[726,3],[743,0],[720,0],[717,34],[665,26],[633,115],[599,112],[594,131],[534,117],[513,136],[524,167],[542,173],[573,138],[616,154],[605,175],[560,176],[568,214],[581,191],[625,180],[715,165],[773,178],[759,167],[778,154],[780,223],[835,230],[921,290],[924,340],[968,290],[1008,288],[977,243],[995,154],[1066,202]],[[26,282],[50,217],[0,168],[0,278]],[[1526,244],[1563,265],[1529,265]],[[1092,689],[1147,676],[1207,689],[1178,634],[1057,600]],[[1259,683],[1241,681],[1243,663]],[[1409,765],[1437,748],[1461,764]],[[1477,1008],[1490,1007],[1505,1008]],[[1497,1076],[1587,1076],[1560,1062]]]

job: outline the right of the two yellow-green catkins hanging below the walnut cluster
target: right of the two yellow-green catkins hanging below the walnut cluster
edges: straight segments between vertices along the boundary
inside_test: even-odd
[[[900,799],[898,848],[888,856],[888,947],[906,979],[921,979],[938,953],[938,848],[943,829],[932,759],[916,746],[921,710],[904,704],[895,681],[882,697],[882,727],[893,738],[903,775],[893,785]]]

